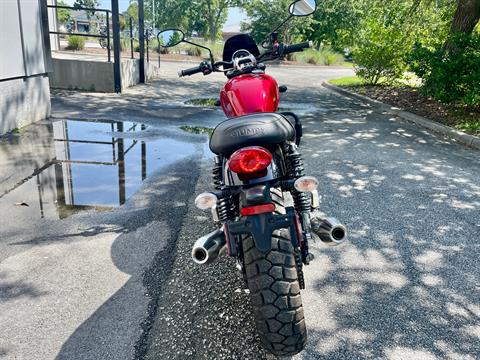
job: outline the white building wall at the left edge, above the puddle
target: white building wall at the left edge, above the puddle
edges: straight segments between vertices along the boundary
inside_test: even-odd
[[[0,134],[50,115],[46,5],[47,0],[0,1]]]

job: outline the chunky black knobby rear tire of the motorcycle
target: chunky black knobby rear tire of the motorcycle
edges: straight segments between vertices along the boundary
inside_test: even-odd
[[[264,348],[277,356],[303,350],[307,330],[295,253],[288,231],[275,230],[272,249],[263,253],[251,236],[243,239],[247,285]]]

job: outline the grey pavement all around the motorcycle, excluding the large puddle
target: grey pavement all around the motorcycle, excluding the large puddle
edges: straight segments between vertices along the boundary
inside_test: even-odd
[[[211,154],[206,135],[179,128],[213,127],[223,115],[183,102],[216,96],[224,79],[179,80],[191,64],[162,66],[162,80],[122,96],[55,93],[53,121],[137,121],[147,129],[133,138],[175,139],[185,156],[120,208],[1,223],[0,357],[271,358],[232,261],[189,258],[212,228],[192,204],[210,188]],[[302,293],[309,341],[294,358],[478,358],[480,153],[320,85],[349,73],[270,71],[289,87],[283,108],[304,119],[301,152],[320,180],[322,210],[350,230],[341,247],[312,246]],[[17,200],[0,198],[0,209]]]

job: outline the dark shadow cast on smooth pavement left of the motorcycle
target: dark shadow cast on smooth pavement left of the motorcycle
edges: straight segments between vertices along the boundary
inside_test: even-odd
[[[77,328],[57,359],[133,358],[135,345],[143,346],[143,331],[148,331],[162,281],[175,259],[181,219],[198,177],[195,162],[165,170],[168,176],[155,180],[150,191],[141,191],[115,215],[118,223],[110,225],[123,232],[113,242],[111,257],[129,279]],[[172,196],[159,196],[165,192]],[[146,319],[142,328],[139,319]]]

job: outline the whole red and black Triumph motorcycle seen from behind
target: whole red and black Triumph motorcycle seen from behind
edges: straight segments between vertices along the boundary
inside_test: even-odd
[[[249,35],[228,39],[223,60],[185,39],[182,31],[158,34],[162,46],[187,42],[207,49],[210,60],[182,70],[179,76],[224,72],[227,83],[220,105],[228,117],[213,131],[215,190],[202,193],[195,204],[210,209],[218,229],[195,242],[192,258],[208,264],[225,249],[237,260],[250,289],[257,331],[264,347],[275,355],[300,352],[307,339],[300,290],[305,288],[303,266],[313,259],[308,246],[319,238],[329,245],[346,240],[347,230],[334,218],[320,215],[318,180],[305,176],[298,145],[300,119],[277,113],[279,94],[286,91],[265,74],[265,62],[311,47],[279,43],[277,30],[293,16],[316,10],[314,0],[299,0],[290,16],[262,44],[260,53]]]

